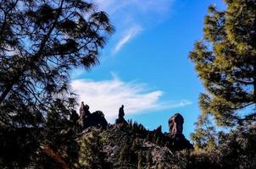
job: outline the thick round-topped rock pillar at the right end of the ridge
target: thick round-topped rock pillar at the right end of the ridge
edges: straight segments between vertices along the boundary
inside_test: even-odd
[[[170,134],[182,134],[183,123],[184,118],[181,116],[180,113],[176,113],[175,115],[170,117],[168,121]]]

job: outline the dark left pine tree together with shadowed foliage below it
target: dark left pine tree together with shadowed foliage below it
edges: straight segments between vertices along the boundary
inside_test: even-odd
[[[33,166],[41,147],[69,150],[70,69],[96,65],[113,31],[108,14],[86,1],[0,1],[1,168]]]

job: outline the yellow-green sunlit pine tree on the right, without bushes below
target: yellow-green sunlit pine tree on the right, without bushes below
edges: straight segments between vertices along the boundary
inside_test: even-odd
[[[209,7],[203,41],[190,58],[206,89],[199,97],[203,114],[212,114],[220,126],[234,126],[256,117],[256,2],[225,3],[225,11]]]

